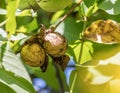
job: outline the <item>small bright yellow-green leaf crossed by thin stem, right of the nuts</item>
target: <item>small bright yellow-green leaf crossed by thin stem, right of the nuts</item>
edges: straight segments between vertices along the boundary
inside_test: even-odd
[[[74,60],[78,64],[85,63],[92,59],[91,54],[93,53],[92,43],[91,42],[84,42],[83,46],[81,46],[82,42],[76,41],[73,45],[70,45],[68,48],[68,54],[74,57]],[[82,47],[82,48],[81,48]],[[80,51],[82,54],[80,55]],[[81,57],[80,62],[78,62],[79,58]]]

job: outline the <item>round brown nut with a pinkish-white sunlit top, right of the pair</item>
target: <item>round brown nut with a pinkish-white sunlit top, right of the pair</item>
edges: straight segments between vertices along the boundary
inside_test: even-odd
[[[59,57],[67,50],[67,40],[57,32],[50,32],[44,36],[43,47],[50,56]]]

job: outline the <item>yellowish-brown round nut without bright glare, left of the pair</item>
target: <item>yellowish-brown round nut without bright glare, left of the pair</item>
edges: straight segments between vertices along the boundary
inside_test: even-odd
[[[39,67],[44,64],[45,52],[38,43],[25,44],[21,49],[22,60],[34,67]]]

